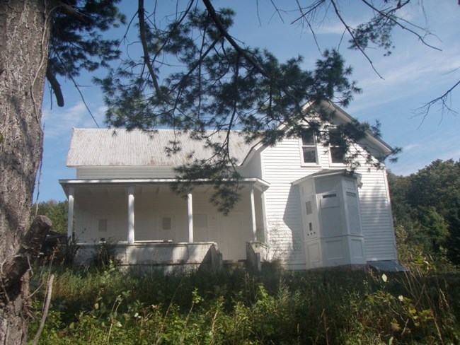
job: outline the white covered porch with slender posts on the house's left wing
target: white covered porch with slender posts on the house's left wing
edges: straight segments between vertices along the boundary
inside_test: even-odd
[[[209,202],[212,185],[178,196],[173,181],[59,180],[69,199],[67,235],[79,245],[77,260],[87,261],[100,243],[110,242],[122,264],[215,267],[219,260],[246,260],[246,242],[265,242],[267,182],[242,179],[241,200],[225,216]]]

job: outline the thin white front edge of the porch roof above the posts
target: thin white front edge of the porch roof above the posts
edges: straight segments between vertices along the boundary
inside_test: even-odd
[[[136,185],[166,185],[172,182],[177,182],[174,178],[150,178],[150,179],[71,179],[71,180],[59,180],[59,184],[64,189],[65,194],[69,197],[69,187],[130,187]],[[197,180],[197,182],[211,184],[212,182],[208,179]],[[239,180],[240,183],[247,185],[254,185],[259,190],[265,190],[270,187],[270,183],[261,180],[258,177],[246,177]]]

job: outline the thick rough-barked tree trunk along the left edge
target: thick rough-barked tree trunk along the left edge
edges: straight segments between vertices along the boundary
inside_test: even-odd
[[[0,344],[25,344],[28,330],[28,274],[4,273],[28,247],[53,2],[0,1]]]

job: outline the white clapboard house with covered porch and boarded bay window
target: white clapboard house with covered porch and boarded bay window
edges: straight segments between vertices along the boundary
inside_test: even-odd
[[[352,118],[335,105],[334,121]],[[164,147],[179,141],[182,151]],[[219,266],[221,260],[280,259],[289,269],[391,264],[398,267],[385,170],[361,166],[350,175],[335,147],[313,138],[275,146],[248,145],[232,133],[242,197],[224,216],[209,202],[211,185],[174,194],[173,167],[209,152],[172,129],[155,134],[124,129],[74,129],[59,180],[69,199],[68,235],[85,260],[100,242],[116,242],[125,264]],[[391,147],[368,134],[374,156]]]

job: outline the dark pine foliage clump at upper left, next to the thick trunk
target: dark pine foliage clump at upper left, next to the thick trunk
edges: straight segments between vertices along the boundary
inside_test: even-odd
[[[116,6],[119,2],[70,0],[54,8],[46,76],[60,107],[64,97],[57,76],[74,81],[82,71],[108,67],[110,61],[120,57],[120,40],[106,40],[102,35],[125,23],[125,16]]]

